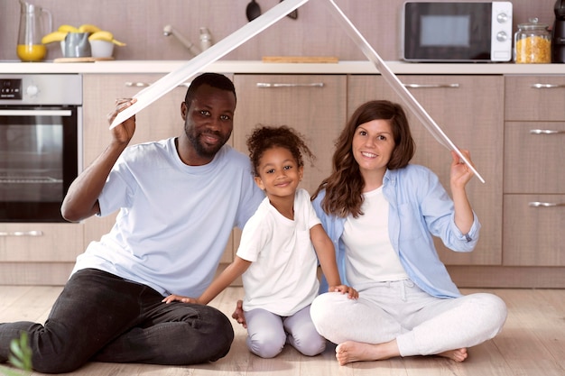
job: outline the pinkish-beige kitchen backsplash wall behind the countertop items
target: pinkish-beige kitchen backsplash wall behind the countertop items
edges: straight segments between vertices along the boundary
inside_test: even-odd
[[[53,28],[60,24],[92,23],[113,32],[125,47],[116,47],[116,60],[189,60],[192,55],[179,40],[164,36],[171,25],[198,45],[199,28],[207,27],[219,41],[247,23],[245,8],[251,0],[26,0],[51,11]],[[280,0],[256,0],[263,12]],[[261,60],[263,56],[335,56],[365,60],[322,3],[310,0],[298,18],[284,17],[223,60]],[[453,0],[451,0],[453,1]],[[470,0],[480,1],[480,0]],[[400,11],[404,0],[336,0],[336,4],[384,60],[398,60]],[[517,23],[538,17],[553,23],[555,0],[514,0]],[[18,60],[16,40],[20,0],[0,0],[0,60]],[[48,45],[46,60],[60,58],[58,43]],[[0,68],[1,72],[1,68]]]

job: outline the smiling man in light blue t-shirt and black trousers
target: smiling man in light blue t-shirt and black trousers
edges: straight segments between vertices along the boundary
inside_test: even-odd
[[[110,123],[134,103],[116,102]],[[180,136],[127,147],[134,116],[112,130],[107,149],[70,186],[61,214],[80,221],[119,209],[116,224],[79,255],[45,326],[0,324],[0,362],[22,331],[34,369],[46,373],[88,361],[193,364],[227,354],[234,332],[226,316],[162,299],[198,297],[234,225],[243,227],[264,198],[248,158],[226,145],[235,109],[233,83],[205,73],[181,104]]]

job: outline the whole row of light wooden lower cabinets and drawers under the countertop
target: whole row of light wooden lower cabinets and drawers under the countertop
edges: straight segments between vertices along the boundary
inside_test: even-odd
[[[131,97],[162,75],[88,74],[84,86],[84,164],[110,140],[107,114],[116,97]],[[237,108],[230,143],[258,124],[289,125],[316,155],[305,161],[302,188],[312,193],[329,175],[334,142],[347,116],[372,99],[399,102],[379,75],[235,74]],[[565,288],[565,78],[502,75],[400,75],[412,95],[458,147],[471,151],[486,184],[472,179],[468,196],[482,224],[477,249],[440,258],[459,287]],[[132,143],[182,132],[178,87],[136,115]],[[406,106],[404,105],[404,108]],[[412,160],[431,168],[449,191],[449,151],[407,111],[416,141]],[[538,131],[542,132],[538,132]],[[532,132],[533,131],[533,132]],[[546,132],[550,131],[550,132]],[[114,224],[115,216],[81,224],[0,224],[0,284],[63,284],[76,256]],[[42,235],[33,236],[36,231]],[[14,234],[15,233],[15,234]],[[22,235],[28,234],[28,236]],[[234,230],[218,271],[233,261]],[[240,281],[236,281],[236,284]]]

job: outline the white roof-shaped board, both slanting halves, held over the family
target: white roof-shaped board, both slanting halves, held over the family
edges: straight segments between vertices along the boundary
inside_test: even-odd
[[[195,76],[197,73],[206,68],[209,64],[214,61],[221,59],[223,56],[227,55],[232,50],[245,43],[245,41],[250,40],[255,37],[260,32],[263,32],[266,28],[271,26],[282,19],[286,14],[291,13],[293,10],[304,5],[309,0],[285,0],[278,5],[273,6],[270,10],[255,18],[250,23],[246,23],[243,27],[236,30],[236,32],[231,33],[226,38],[218,41],[216,44],[211,46],[208,50],[203,51],[199,55],[195,56],[189,60],[186,64],[182,65],[171,73],[163,76],[161,79],[153,83],[149,87],[145,87],[142,91],[137,93],[134,98],[137,102],[134,105],[126,108],[124,111],[120,112],[114,122],[110,125],[110,129],[114,128],[117,124],[123,123],[129,117],[137,114],[139,111],[144,109],[147,105],[151,105],[154,101],[164,96],[174,87],[181,85],[185,80]],[[420,105],[420,103],[412,96],[410,91],[404,87],[403,83],[398,79],[393,71],[389,69],[381,57],[376,53],[376,51],[371,47],[371,45],[366,41],[363,35],[357,31],[357,28],[353,23],[349,21],[347,16],[341,11],[338,5],[335,4],[333,0],[320,0],[326,2],[329,12],[334,16],[338,23],[347,32],[347,35],[355,41],[357,47],[363,51],[366,58],[375,64],[376,69],[383,76],[384,80],[388,85],[390,85],[394,92],[403,99],[404,104],[416,115],[426,129],[435,137],[435,139],[440,142],[443,146],[449,150],[455,151],[458,157],[463,160],[468,168],[471,169],[477,178],[481,182],[485,182],[485,179],[481,177],[478,171],[471,165],[469,160],[463,155],[461,151],[458,150],[457,146],[449,137],[441,130],[440,126],[434,122],[431,116],[426,112],[426,110]]]

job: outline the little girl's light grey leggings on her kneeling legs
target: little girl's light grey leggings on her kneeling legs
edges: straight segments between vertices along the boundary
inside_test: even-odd
[[[247,347],[262,358],[273,358],[291,344],[304,355],[314,356],[326,348],[326,339],[318,334],[310,319],[310,306],[292,316],[278,316],[264,309],[245,312]]]

